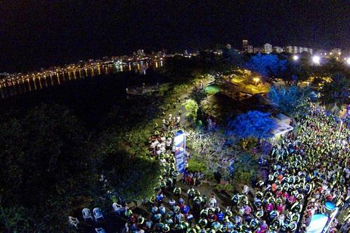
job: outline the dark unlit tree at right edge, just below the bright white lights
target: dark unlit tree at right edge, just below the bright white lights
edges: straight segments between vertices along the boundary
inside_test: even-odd
[[[341,108],[350,103],[349,77],[342,73],[335,73],[331,81],[325,83],[321,89],[321,102],[327,106]]]

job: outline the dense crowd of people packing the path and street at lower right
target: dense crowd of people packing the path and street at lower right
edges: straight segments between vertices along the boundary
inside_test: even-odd
[[[129,214],[125,230],[307,232],[312,216],[326,213],[324,204],[328,201],[345,215],[342,232],[348,232],[349,122],[339,125],[337,118],[323,108],[310,108],[304,118],[297,119],[297,134],[282,136],[266,158],[267,163],[262,164],[267,167],[267,178],[253,189],[244,185],[225,206],[218,204],[214,194],[206,197],[197,190],[201,174],[183,176],[183,182],[191,186],[188,190],[181,190],[176,183],[179,173],[172,139],[179,122],[178,117],[169,115],[169,120],[163,120],[162,132],[151,136],[151,154],[160,160],[162,176],[155,195],[149,199],[150,216]],[[330,232],[337,232],[337,218],[330,224]]]

